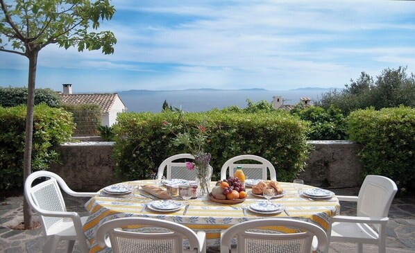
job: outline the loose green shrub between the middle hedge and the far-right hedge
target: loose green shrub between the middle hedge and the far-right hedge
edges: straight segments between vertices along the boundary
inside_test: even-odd
[[[316,141],[347,139],[346,120],[341,110],[333,105],[328,110],[324,110],[319,106],[304,107],[300,103],[290,113],[298,115],[304,121],[310,121],[309,139]]]

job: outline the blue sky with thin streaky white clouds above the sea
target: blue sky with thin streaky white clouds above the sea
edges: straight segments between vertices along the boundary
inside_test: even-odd
[[[112,0],[100,29],[115,53],[40,51],[36,87],[343,88],[362,71],[415,73],[415,1]],[[4,40],[3,40],[4,41]],[[24,87],[28,60],[0,52],[0,86]]]

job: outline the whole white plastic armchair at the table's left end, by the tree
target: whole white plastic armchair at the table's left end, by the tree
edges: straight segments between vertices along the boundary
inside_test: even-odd
[[[33,181],[38,177],[50,177],[50,179],[32,186]],[[98,194],[72,191],[62,177],[49,171],[36,171],[27,177],[24,195],[31,209],[41,217],[43,252],[56,252],[59,241],[69,241],[67,252],[72,252],[75,241],[78,241],[81,252],[86,253],[89,247],[82,226],[87,217],[81,218],[78,213],[67,211],[59,186],[69,195],[76,197],[92,197]]]

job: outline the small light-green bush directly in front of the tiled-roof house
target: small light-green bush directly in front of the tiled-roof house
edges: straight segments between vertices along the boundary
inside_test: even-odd
[[[74,116],[76,129],[74,137],[99,136],[97,129],[101,125],[101,107],[96,104],[62,105]]]

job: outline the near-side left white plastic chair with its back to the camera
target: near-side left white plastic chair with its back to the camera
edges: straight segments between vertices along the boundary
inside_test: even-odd
[[[144,226],[149,230],[131,232],[120,228],[130,225]],[[183,249],[183,236],[189,241],[189,250]],[[114,253],[206,252],[205,232],[199,231],[196,234],[192,229],[178,223],[153,218],[128,217],[109,220],[96,230],[96,242],[100,247],[112,247]]]

